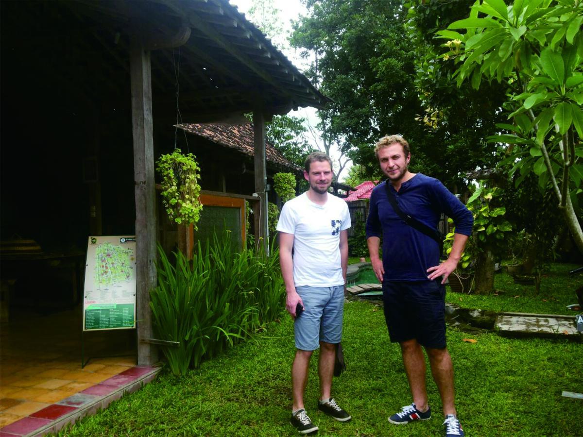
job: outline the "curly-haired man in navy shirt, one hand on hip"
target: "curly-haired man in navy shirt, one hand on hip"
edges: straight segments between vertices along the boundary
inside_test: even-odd
[[[463,436],[454,404],[454,372],[445,344],[444,283],[458,265],[472,232],[472,213],[440,181],[408,170],[409,144],[399,135],[385,136],[375,155],[387,181],[373,189],[366,225],[373,270],[382,283],[389,337],[401,345],[413,403],[389,417],[405,425],[431,418],[425,385],[425,348],[441,395],[447,436]],[[405,214],[436,229],[441,213],[455,223],[449,257],[440,263],[440,245],[406,224],[387,198],[388,189]],[[382,260],[379,258],[382,237]]]

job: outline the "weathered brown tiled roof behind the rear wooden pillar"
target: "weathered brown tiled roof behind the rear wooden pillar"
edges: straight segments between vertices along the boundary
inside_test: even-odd
[[[202,136],[223,147],[238,150],[248,156],[254,156],[253,125],[228,125],[228,124],[181,124],[178,128],[184,129],[194,135]],[[268,142],[265,143],[265,157],[269,163],[277,164],[290,170],[300,170],[296,164],[286,160],[281,152]]]

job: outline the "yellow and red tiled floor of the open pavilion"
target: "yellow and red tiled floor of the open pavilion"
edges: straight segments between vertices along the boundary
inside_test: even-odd
[[[135,366],[128,330],[86,334],[86,349],[109,357],[92,358],[82,369],[80,309],[13,312],[10,320],[0,331],[0,436],[54,432],[53,425],[106,407],[156,373]]]

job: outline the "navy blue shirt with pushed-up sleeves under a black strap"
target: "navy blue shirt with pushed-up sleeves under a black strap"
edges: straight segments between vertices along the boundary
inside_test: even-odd
[[[375,186],[370,196],[366,237],[382,237],[383,279],[387,281],[427,281],[427,269],[439,265],[439,245],[433,238],[410,227],[397,215],[385,188]],[[389,184],[401,210],[437,229],[441,213],[454,220],[455,232],[472,233],[472,213],[435,178],[417,173],[396,191]]]

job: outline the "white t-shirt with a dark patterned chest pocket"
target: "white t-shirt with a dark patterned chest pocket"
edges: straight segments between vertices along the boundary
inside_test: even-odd
[[[278,231],[293,234],[293,280],[296,287],[335,287],[344,284],[340,265],[340,231],[350,227],[346,202],[328,194],[317,205],[303,193],[288,200],[279,216]]]

